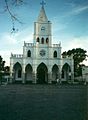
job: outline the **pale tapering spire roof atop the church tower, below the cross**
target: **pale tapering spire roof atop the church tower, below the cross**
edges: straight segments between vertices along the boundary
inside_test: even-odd
[[[45,10],[44,10],[44,6],[41,7],[39,16],[38,16],[38,22],[47,22],[48,18],[46,16]]]

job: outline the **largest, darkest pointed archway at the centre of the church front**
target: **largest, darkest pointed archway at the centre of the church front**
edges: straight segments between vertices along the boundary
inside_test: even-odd
[[[38,84],[48,83],[48,69],[44,63],[41,63],[37,67],[37,83]]]

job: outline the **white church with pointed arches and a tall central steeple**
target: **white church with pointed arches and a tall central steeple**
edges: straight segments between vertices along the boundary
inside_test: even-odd
[[[52,23],[44,1],[34,22],[33,43],[24,42],[23,54],[11,54],[10,82],[50,84],[74,80],[73,57],[62,58],[61,43],[52,44]]]

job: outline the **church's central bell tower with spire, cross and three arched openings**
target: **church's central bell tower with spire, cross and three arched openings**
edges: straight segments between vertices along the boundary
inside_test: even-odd
[[[50,46],[52,44],[51,22],[45,13],[45,2],[42,1],[40,4],[41,10],[37,22],[34,22],[34,44]]]

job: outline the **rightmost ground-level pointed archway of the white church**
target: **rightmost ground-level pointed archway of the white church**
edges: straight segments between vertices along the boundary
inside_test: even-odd
[[[62,67],[62,79],[67,81],[71,79],[71,68],[68,63],[65,63]]]

